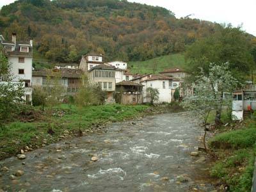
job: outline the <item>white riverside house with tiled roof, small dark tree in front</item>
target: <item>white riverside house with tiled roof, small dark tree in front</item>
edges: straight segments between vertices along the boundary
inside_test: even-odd
[[[147,88],[156,88],[159,91],[159,100],[156,103],[171,102],[175,88],[180,85],[178,79],[163,75],[150,75],[147,79],[141,81],[141,84],[143,85],[143,102],[150,102]]]

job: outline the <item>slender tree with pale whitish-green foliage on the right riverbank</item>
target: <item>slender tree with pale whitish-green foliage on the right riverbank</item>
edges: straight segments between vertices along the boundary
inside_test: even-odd
[[[228,63],[223,65],[209,65],[209,73],[201,68],[193,88],[193,95],[186,95],[182,105],[197,116],[204,125],[204,147],[207,152],[205,136],[208,131],[207,121],[211,112],[216,113],[215,124],[220,125],[221,110],[223,106],[232,105],[232,92],[237,86],[236,79],[228,70]],[[229,93],[223,98],[223,93]]]

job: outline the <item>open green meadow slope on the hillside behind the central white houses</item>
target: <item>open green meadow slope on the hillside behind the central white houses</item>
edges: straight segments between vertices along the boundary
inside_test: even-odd
[[[131,61],[128,63],[128,68],[132,73],[147,74],[154,72],[162,72],[166,68],[185,67],[184,54],[170,54],[160,56],[147,61]]]

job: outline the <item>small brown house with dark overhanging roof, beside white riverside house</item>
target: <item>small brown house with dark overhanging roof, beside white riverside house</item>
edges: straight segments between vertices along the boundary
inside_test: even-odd
[[[142,84],[132,81],[122,81],[116,83],[116,102],[120,104],[141,104]]]

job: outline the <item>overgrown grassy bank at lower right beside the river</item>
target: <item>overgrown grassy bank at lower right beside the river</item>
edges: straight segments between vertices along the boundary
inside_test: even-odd
[[[227,184],[229,191],[251,191],[255,141],[256,124],[250,119],[236,127],[223,127],[221,133],[210,140],[209,145],[218,156],[211,175]]]

